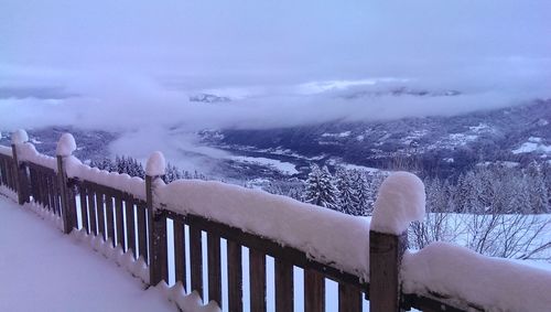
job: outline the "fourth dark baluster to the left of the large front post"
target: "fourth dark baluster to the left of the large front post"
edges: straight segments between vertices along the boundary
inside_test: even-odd
[[[266,311],[266,255],[249,249],[250,310]]]

